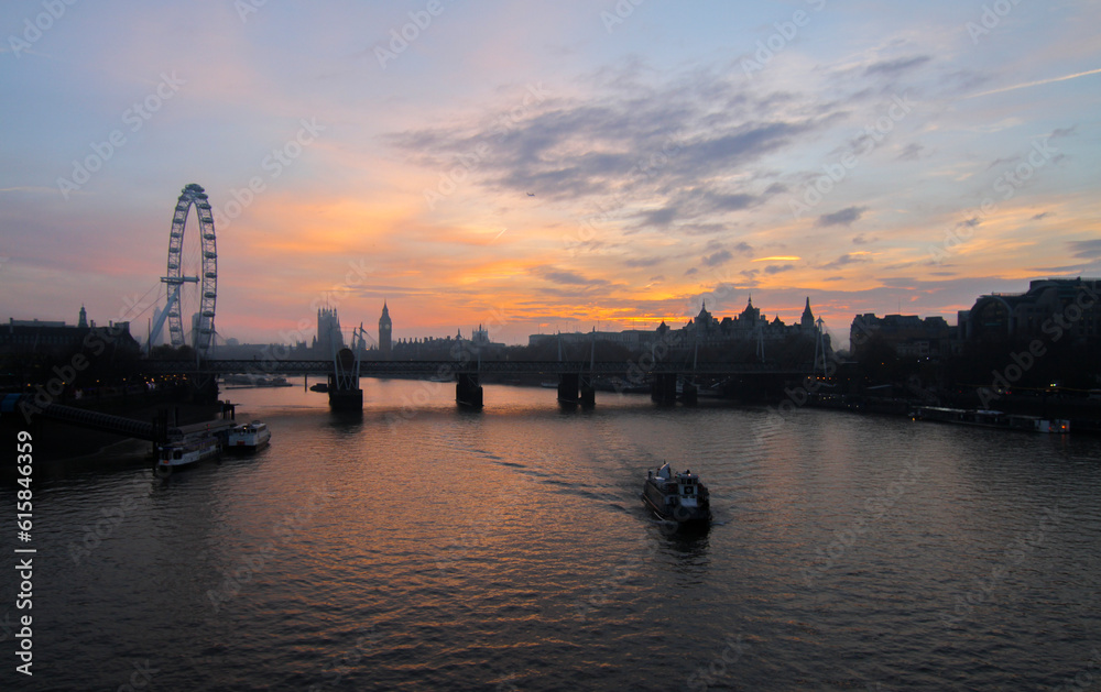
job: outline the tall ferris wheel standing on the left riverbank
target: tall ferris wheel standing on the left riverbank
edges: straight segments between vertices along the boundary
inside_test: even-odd
[[[185,244],[184,230],[192,205],[199,220],[199,238],[197,242]],[[199,358],[206,358],[215,333],[218,249],[210,202],[203,188],[194,183],[184,187],[176,200],[168,232],[168,266],[161,282],[167,287],[167,303],[150,333],[159,336],[167,320],[173,347],[186,344],[194,348]]]

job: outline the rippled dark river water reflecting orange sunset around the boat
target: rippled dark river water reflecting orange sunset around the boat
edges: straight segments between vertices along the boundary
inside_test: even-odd
[[[225,392],[250,458],[39,482],[0,688],[1101,690],[1098,438],[363,384]],[[647,516],[663,460],[709,530]]]

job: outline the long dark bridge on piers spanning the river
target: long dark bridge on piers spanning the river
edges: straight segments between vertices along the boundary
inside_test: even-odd
[[[342,356],[342,358],[340,358]],[[650,384],[651,396],[658,403],[678,398],[677,381],[684,381],[680,398],[694,403],[698,376],[771,375],[804,377],[813,374],[814,365],[780,366],[768,363],[643,363],[612,361],[360,361],[345,350],[333,360],[264,359],[215,360],[200,362],[148,360],[142,364],[146,375],[316,375],[328,377],[329,402],[334,408],[362,408],[360,377],[436,377],[456,382],[456,402],[469,406],[482,405],[479,375],[544,375],[557,376],[558,400],[567,404],[592,405],[596,377],[623,377],[631,385]]]

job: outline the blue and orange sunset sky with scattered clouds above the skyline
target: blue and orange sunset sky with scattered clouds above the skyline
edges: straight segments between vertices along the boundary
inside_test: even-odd
[[[221,338],[676,328],[836,343],[1101,275],[1101,3],[8,0],[0,319],[164,303],[215,211]],[[185,261],[198,273],[195,210]],[[197,303],[185,292],[185,308]],[[193,303],[194,301],[194,303]]]

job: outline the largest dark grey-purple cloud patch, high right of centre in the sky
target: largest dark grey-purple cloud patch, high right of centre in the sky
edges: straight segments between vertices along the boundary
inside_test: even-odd
[[[622,73],[614,73],[618,86],[591,95],[548,96],[519,114],[516,103],[494,103],[465,120],[391,133],[385,141],[430,172],[459,166],[464,185],[534,191],[556,202],[591,199],[581,204],[601,212],[621,209],[635,230],[691,229],[784,194],[775,173],[742,174],[841,114],[832,102],[783,108],[797,95],[746,91],[718,69],[634,88],[622,79],[636,79]]]

